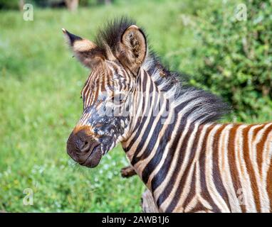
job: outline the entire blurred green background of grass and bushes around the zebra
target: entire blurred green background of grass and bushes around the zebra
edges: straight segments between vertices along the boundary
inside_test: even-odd
[[[93,38],[110,18],[130,16],[184,83],[210,90],[234,107],[227,121],[272,120],[272,1],[115,0],[33,4],[0,0],[0,211],[135,212],[145,189],[122,179],[117,147],[95,169],[75,165],[66,140],[80,118],[88,70],[69,52],[61,28]],[[56,4],[58,2],[58,4]],[[63,6],[63,7],[61,7]],[[240,16],[240,17],[239,17]],[[24,189],[33,205],[23,205]]]

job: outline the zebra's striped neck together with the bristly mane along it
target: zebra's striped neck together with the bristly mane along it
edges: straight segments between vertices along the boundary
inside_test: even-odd
[[[136,114],[122,147],[154,194],[164,188],[173,160],[183,162],[190,136],[224,114],[226,105],[213,94],[183,87],[154,59],[140,69],[134,96]]]

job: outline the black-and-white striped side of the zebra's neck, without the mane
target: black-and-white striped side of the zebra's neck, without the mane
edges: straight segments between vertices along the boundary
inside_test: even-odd
[[[128,159],[147,187],[152,190],[159,175],[167,173],[182,131],[191,124],[179,109],[164,99],[149,74],[142,70],[137,91],[137,106],[132,121],[130,138],[122,142]],[[166,94],[167,95],[167,94]],[[140,111],[142,111],[140,113]],[[174,144],[174,145],[172,145]]]

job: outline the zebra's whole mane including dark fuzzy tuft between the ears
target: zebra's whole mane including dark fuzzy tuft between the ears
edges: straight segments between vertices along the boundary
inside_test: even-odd
[[[133,24],[136,23],[132,19],[121,17],[108,22],[104,29],[98,31],[95,43],[103,50],[105,56],[108,55],[109,50],[111,53],[117,51],[115,48],[120,42],[122,34],[126,28]],[[193,111],[188,116],[191,121],[200,123],[213,122],[229,113],[229,105],[222,101],[219,96],[202,89],[184,86],[181,81],[181,75],[167,70],[150,48],[142,67],[150,74],[158,89],[166,92],[167,96],[174,100],[175,107],[178,108],[186,102],[188,102],[188,106],[189,104],[190,106],[192,105]]]

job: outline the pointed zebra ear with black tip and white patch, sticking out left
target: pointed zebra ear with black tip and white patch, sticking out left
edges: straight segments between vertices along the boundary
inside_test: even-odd
[[[99,62],[105,59],[103,52],[95,43],[85,38],[80,38],[78,35],[73,35],[64,28],[62,30],[75,57],[83,65],[93,69]]]

